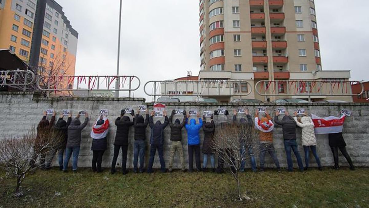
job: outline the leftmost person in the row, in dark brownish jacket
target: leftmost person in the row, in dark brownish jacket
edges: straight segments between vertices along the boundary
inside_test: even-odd
[[[31,166],[34,166],[36,163],[37,157],[40,156],[40,167],[45,168],[45,157],[46,152],[49,148],[47,147],[48,140],[51,136],[50,131],[51,127],[54,125],[55,122],[55,115],[56,112],[54,111],[50,122],[46,119],[46,111],[44,111],[44,116],[42,116],[41,121],[37,125],[37,135],[35,140],[35,146],[34,146],[34,154],[32,156],[32,160],[30,162]]]

